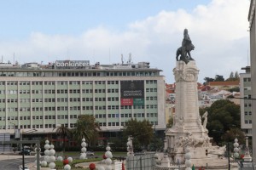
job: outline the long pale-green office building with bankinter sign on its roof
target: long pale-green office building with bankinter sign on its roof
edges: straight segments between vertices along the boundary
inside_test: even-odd
[[[165,77],[149,63],[0,65],[0,133],[53,133],[73,128],[79,115],[93,115],[102,132],[120,131],[131,118],[166,127]]]

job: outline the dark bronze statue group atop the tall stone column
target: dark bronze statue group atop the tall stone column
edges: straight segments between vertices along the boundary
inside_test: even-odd
[[[189,31],[188,29],[184,29],[182,47],[177,48],[176,60],[183,60],[186,64],[189,63],[189,60],[194,60],[190,54],[190,51],[194,49],[195,46],[190,40]],[[179,55],[181,56],[180,59],[178,59]]]

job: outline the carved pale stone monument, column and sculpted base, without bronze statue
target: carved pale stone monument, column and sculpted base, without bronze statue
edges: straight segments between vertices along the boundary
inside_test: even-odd
[[[195,60],[188,64],[177,61],[173,74],[176,81],[175,116],[173,126],[166,129],[167,150],[171,162],[185,162],[184,150],[189,147],[191,161],[195,167],[208,164],[227,165],[223,160],[225,146],[212,146],[207,130],[207,112],[201,121],[198,106],[197,80],[199,70]],[[206,150],[208,155],[206,156]],[[222,162],[224,164],[222,164]]]

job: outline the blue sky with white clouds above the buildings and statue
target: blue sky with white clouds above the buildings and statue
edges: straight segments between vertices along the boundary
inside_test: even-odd
[[[20,64],[56,59],[90,64],[150,62],[173,83],[183,30],[204,77],[230,76],[249,63],[249,0],[0,1],[0,54]]]

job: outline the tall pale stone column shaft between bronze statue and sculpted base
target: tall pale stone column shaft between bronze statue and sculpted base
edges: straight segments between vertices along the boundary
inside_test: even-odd
[[[176,81],[175,126],[179,133],[198,133],[202,130],[198,108],[198,73],[193,60],[188,64],[177,61],[176,68],[173,69]]]

